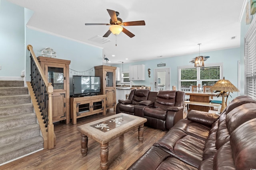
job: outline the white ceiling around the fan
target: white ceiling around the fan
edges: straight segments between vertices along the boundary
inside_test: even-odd
[[[8,0],[34,11],[27,27],[102,47],[109,64],[159,59],[240,46],[240,18],[246,0]],[[108,31],[106,9],[126,21],[135,34],[110,34],[101,44],[88,39]],[[235,39],[231,37],[236,36]],[[117,41],[117,46],[116,46]],[[115,55],[115,57],[112,57]],[[103,56],[102,56],[103,58]],[[126,60],[128,59],[128,60]],[[103,63],[105,63],[103,61]]]

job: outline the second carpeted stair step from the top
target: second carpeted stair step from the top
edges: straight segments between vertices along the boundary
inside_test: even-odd
[[[28,94],[27,87],[1,87],[0,96],[12,96],[12,95]]]

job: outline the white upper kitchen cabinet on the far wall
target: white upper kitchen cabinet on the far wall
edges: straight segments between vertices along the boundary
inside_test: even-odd
[[[130,80],[145,80],[145,65],[129,66],[129,79]]]

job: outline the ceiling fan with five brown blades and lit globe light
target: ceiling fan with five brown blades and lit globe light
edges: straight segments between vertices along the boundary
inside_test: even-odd
[[[123,33],[125,33],[131,38],[134,37],[135,35],[122,26],[145,25],[144,20],[123,22],[121,18],[118,18],[119,12],[116,12],[114,10],[108,10],[108,9],[107,11],[108,11],[108,14],[110,15],[110,23],[85,23],[85,25],[110,25],[109,30],[103,35],[103,37],[108,37],[110,33],[113,33],[114,35],[118,35],[122,31]]]

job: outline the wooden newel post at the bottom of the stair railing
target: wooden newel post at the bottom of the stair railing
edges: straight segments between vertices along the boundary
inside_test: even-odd
[[[54,148],[54,125],[52,124],[52,93],[53,86],[52,83],[48,83],[48,149]]]

